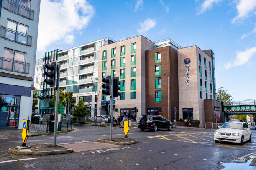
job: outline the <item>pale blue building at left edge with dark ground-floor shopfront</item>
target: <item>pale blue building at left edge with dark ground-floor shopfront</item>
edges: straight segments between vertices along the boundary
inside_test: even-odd
[[[0,129],[31,119],[40,0],[0,0]]]

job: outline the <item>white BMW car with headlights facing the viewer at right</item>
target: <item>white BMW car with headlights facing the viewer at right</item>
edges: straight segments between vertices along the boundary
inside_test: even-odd
[[[244,122],[225,122],[214,132],[215,142],[226,141],[243,144],[248,140],[251,142],[251,130]]]

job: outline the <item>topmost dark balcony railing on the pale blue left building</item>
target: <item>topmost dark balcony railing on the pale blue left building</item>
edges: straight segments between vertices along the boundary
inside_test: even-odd
[[[34,20],[34,11],[12,0],[3,0],[3,8],[18,15]]]

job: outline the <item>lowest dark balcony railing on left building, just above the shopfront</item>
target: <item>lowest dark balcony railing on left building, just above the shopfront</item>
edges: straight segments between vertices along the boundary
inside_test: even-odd
[[[29,74],[30,64],[0,57],[0,68]]]

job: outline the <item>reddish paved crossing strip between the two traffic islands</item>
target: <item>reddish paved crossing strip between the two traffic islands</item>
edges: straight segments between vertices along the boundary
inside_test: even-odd
[[[82,151],[88,151],[88,150],[118,147],[118,145],[114,145],[114,144],[110,144],[110,143],[99,143],[99,142],[71,143],[71,144],[63,144],[63,145],[59,145],[59,146],[63,146],[65,148],[70,148],[74,152],[82,152]]]

